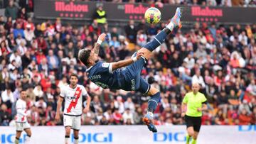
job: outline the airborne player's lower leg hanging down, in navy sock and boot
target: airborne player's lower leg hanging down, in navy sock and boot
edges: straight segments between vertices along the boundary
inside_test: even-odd
[[[156,133],[156,126],[154,126],[154,119],[153,119],[153,113],[156,110],[156,106],[159,103],[160,100],[160,92],[158,89],[151,87],[149,89],[149,106],[148,106],[148,111],[146,112],[146,115],[144,116],[144,118],[142,119],[142,121],[144,123],[146,123],[146,125],[149,128],[149,131],[152,131],[153,133]]]

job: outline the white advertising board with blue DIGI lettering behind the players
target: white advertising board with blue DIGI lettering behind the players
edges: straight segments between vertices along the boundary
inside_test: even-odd
[[[184,144],[186,126],[157,126],[158,133],[151,133],[146,126],[82,126],[79,143],[99,144]],[[64,143],[63,126],[31,127],[32,144]],[[14,143],[14,127],[0,126],[2,144]],[[20,143],[26,134],[22,133]],[[73,142],[73,133],[70,142]],[[256,126],[202,126],[198,144],[255,144]]]

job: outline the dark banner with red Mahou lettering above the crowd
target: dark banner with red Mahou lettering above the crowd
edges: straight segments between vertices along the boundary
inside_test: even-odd
[[[56,18],[69,20],[92,20],[97,6],[102,5],[107,13],[107,21],[140,21],[151,5],[85,1],[36,0],[36,18]],[[157,7],[157,6],[156,6]],[[161,21],[168,21],[177,6],[165,4],[158,8],[162,13]],[[186,6],[183,21],[220,22],[220,23],[256,23],[256,8]]]

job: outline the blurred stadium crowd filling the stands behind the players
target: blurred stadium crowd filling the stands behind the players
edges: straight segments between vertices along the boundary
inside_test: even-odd
[[[14,7],[12,2],[9,7]],[[0,126],[14,125],[21,89],[28,92],[32,126],[61,125],[54,120],[56,101],[72,73],[92,96],[82,124],[142,124],[149,97],[97,87],[87,79],[78,50],[92,48],[97,35],[107,33],[100,59],[124,60],[164,27],[144,21],[129,21],[124,28],[99,26],[97,21],[75,27],[63,25],[60,18],[34,23],[26,9],[6,9],[6,21],[0,16]],[[193,82],[201,84],[208,99],[204,125],[256,124],[256,24],[195,23],[183,30],[169,35],[142,70],[142,76],[161,90],[156,125],[184,123],[181,100]]]

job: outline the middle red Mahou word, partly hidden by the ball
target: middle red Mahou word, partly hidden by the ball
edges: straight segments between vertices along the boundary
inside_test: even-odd
[[[126,14],[144,14],[146,9],[149,7],[142,6],[142,4],[139,4],[139,6],[134,6],[134,4],[125,4],[124,5],[124,13]]]

